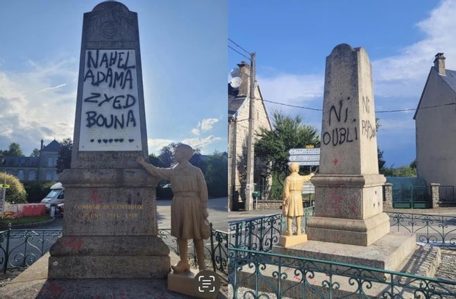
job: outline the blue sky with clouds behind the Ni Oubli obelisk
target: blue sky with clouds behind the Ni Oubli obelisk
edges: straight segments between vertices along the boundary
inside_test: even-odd
[[[456,69],[456,1],[228,2],[228,36],[256,52],[264,99],[323,105],[325,59],[341,43],[364,46],[373,66],[376,110],[416,108],[437,52]],[[228,52],[228,69],[245,60]],[[301,114],[320,130],[321,112],[266,103],[269,111]],[[378,145],[387,166],[414,160],[414,111],[378,113]]]

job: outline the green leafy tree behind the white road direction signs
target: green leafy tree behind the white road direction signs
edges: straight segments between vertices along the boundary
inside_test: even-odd
[[[287,171],[290,148],[303,148],[307,145],[318,147],[319,135],[313,126],[304,125],[300,116],[285,116],[282,112],[273,112],[273,129],[260,128],[255,143],[255,155],[267,162],[268,176],[276,176],[280,185],[281,177]]]

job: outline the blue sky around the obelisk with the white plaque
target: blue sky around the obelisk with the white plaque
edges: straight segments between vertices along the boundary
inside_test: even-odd
[[[0,1],[0,149],[73,138],[83,13],[100,1]],[[149,152],[226,151],[226,1],[121,1],[138,13]]]

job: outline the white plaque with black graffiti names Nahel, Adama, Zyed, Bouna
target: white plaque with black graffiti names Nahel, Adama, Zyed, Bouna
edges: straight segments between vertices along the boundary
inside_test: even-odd
[[[141,151],[135,50],[86,50],[79,151]]]

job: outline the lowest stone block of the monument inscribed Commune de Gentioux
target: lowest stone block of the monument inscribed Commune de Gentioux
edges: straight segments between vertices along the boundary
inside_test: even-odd
[[[63,236],[50,253],[50,279],[166,278],[169,273],[169,248],[156,236]]]

